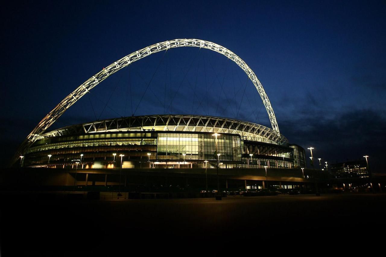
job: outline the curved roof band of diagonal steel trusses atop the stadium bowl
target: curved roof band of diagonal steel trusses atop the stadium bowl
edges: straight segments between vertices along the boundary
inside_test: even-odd
[[[83,123],[52,130],[38,139],[97,132],[183,131],[237,134],[244,140],[288,145],[276,131],[252,122],[202,115],[144,115]]]

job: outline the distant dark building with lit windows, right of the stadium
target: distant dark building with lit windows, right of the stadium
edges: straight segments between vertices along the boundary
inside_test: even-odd
[[[369,171],[365,160],[331,164],[332,178],[368,178]]]

